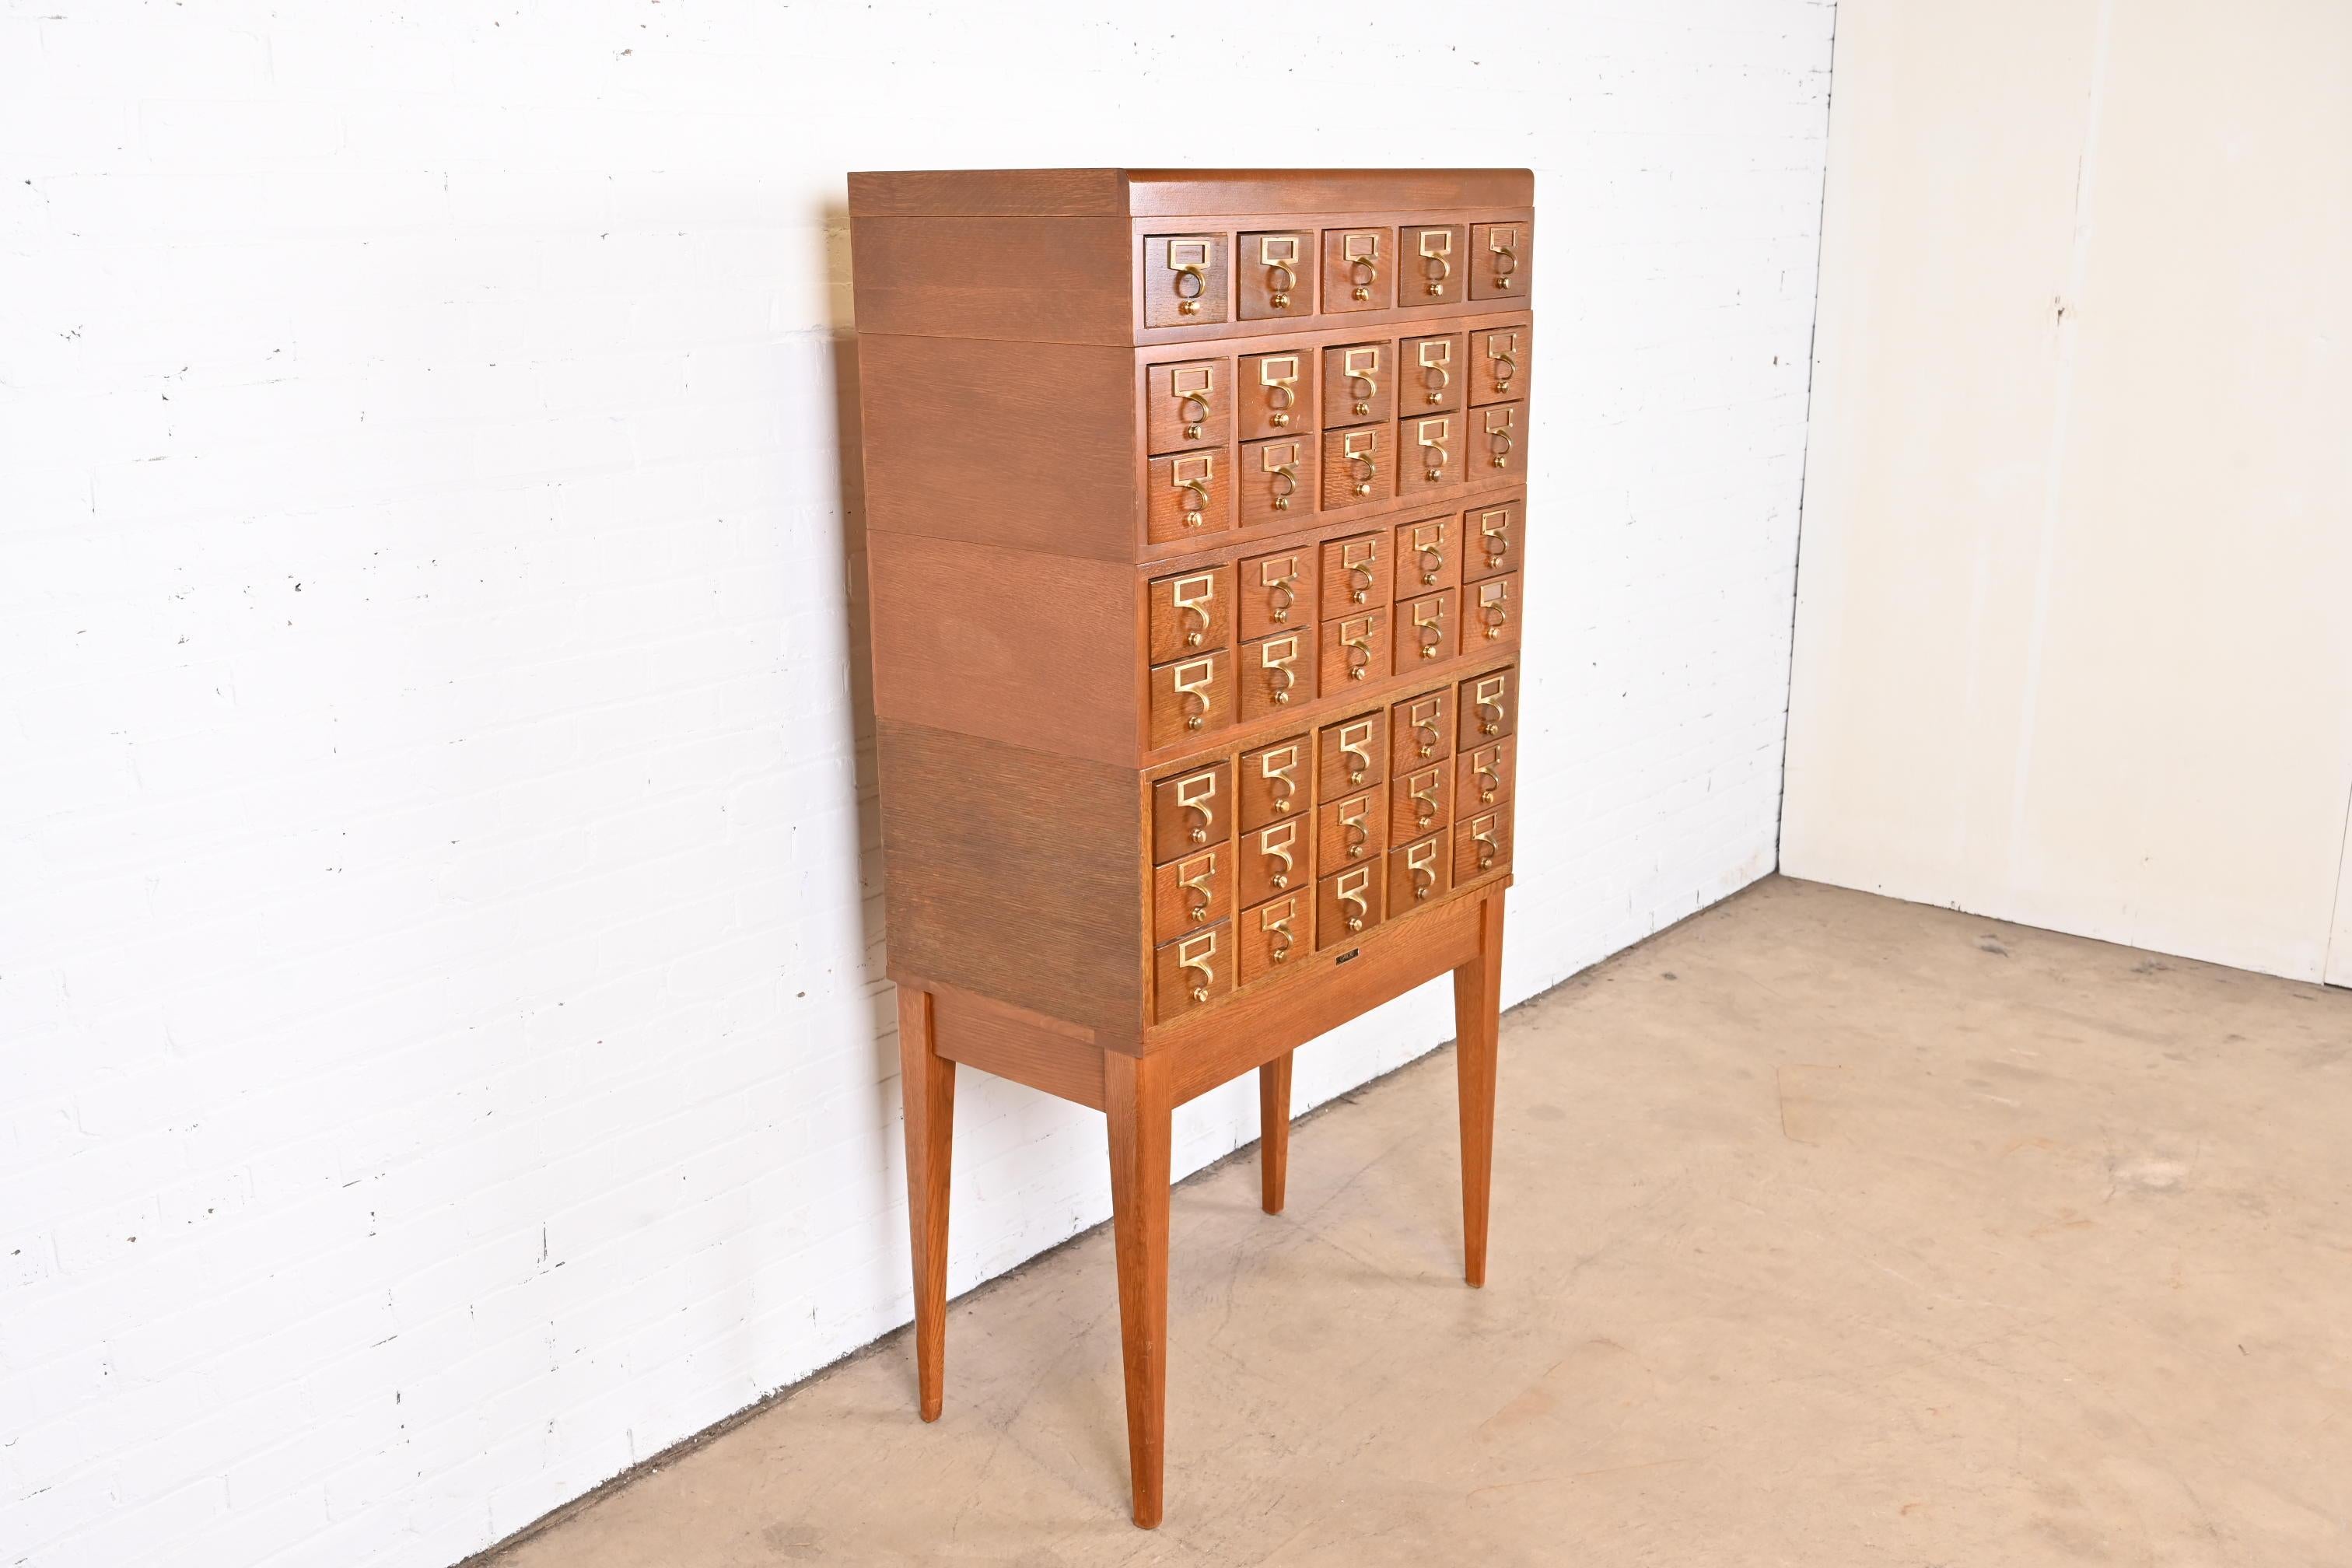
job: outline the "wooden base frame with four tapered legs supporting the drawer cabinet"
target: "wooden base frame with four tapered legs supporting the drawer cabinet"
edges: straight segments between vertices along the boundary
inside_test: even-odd
[[[948,1312],[948,1159],[955,1065],[1030,1084],[1103,1112],[1110,1145],[1112,1251],[1127,1368],[1127,1465],[1134,1521],[1160,1523],[1169,1373],[1169,1126],[1176,1105],[1258,1070],[1261,1194],[1282,1213],[1289,1164],[1291,1051],[1355,1013],[1454,973],[1463,1157],[1463,1279],[1486,1284],[1486,1199],[1494,1175],[1496,1034],[1503,891],[1428,910],[1383,931],[1388,961],[1327,971],[1296,987],[1216,1009],[1216,1030],[1157,1030],[1141,1056],[1065,1023],[969,992],[898,985],[906,1084],[906,1190],[915,1262],[915,1368],[924,1420],[938,1420]],[[1364,943],[1371,947],[1371,938]],[[1157,1048],[1155,1048],[1157,1046]]]

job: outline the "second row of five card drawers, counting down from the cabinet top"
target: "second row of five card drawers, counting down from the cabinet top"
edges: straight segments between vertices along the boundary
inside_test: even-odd
[[[1406,339],[1364,339],[1261,355],[1202,355],[1143,369],[1150,456],[1228,442],[1385,425],[1526,400],[1526,322]],[[1322,395],[1317,397],[1317,388]]]

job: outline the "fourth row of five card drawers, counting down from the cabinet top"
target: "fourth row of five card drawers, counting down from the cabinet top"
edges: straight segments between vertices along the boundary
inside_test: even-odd
[[[1489,501],[1390,529],[1171,571],[1145,585],[1150,663],[1268,637],[1305,621],[1484,583],[1519,569],[1526,505]],[[1301,609],[1312,607],[1312,609]]]

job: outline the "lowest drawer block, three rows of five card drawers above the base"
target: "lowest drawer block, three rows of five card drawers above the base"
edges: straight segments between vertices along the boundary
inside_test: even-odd
[[[1152,1016],[1508,870],[1515,729],[1505,668],[1155,785]]]

